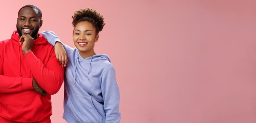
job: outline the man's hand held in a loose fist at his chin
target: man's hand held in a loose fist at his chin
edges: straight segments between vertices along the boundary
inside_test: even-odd
[[[24,42],[23,42],[21,49],[22,49],[23,54],[25,55],[31,51],[31,47],[35,40],[30,35],[22,35],[20,37],[20,45],[22,44],[22,41],[24,41]]]

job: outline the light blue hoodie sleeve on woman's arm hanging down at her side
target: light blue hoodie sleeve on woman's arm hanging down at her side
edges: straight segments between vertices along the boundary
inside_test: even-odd
[[[105,123],[119,123],[121,114],[119,111],[119,88],[115,77],[114,67],[108,68],[102,76],[101,90],[106,112]]]

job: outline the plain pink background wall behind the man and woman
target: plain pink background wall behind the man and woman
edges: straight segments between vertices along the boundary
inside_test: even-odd
[[[72,47],[74,11],[104,15],[95,51],[117,71],[121,123],[256,123],[255,0],[5,0],[0,40],[26,4]],[[63,87],[52,109],[66,123]]]

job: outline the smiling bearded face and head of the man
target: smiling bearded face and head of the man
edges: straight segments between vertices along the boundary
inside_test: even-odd
[[[42,26],[43,21],[38,15],[38,11],[33,8],[25,7],[20,10],[17,18],[17,31],[19,36],[31,35],[34,39],[37,38],[37,32]]]

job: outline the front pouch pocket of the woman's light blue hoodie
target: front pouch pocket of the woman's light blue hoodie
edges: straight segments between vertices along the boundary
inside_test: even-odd
[[[94,107],[92,97],[70,94],[66,110],[85,123],[102,123],[103,117]]]

